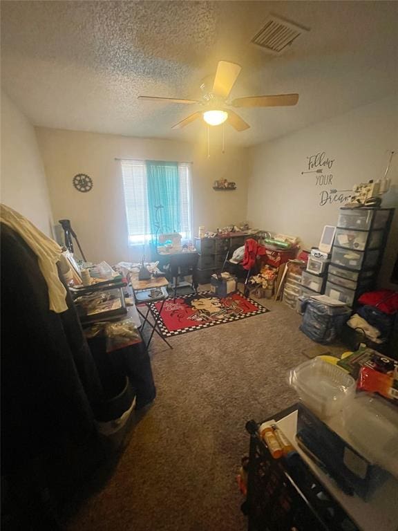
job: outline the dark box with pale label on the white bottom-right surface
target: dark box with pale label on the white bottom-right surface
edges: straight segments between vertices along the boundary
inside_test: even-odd
[[[296,439],[319,459],[340,487],[345,490],[351,487],[365,501],[390,476],[386,470],[364,458],[303,404],[299,404]]]

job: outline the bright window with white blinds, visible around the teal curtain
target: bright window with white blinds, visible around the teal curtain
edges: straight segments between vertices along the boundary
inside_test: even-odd
[[[175,165],[176,163],[170,164]],[[162,162],[159,162],[158,166],[162,169]],[[167,162],[164,163],[163,167],[167,167]],[[150,187],[148,187],[146,162],[144,160],[122,160],[122,177],[129,245],[142,245],[154,240],[156,236],[149,211],[151,198],[148,197]],[[180,203],[178,232],[182,235],[183,241],[188,241],[192,234],[191,164],[189,162],[178,162],[178,188]],[[173,209],[173,205],[162,205],[162,207],[163,209],[168,207]],[[158,234],[174,232],[174,230],[176,227],[161,225]]]

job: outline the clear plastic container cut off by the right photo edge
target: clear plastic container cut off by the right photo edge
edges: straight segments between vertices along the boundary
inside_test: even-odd
[[[344,428],[350,443],[398,478],[398,408],[384,398],[360,393],[345,404]]]

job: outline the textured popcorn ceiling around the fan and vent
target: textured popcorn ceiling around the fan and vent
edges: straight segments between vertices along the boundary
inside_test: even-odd
[[[250,44],[269,12],[311,28],[279,57]],[[397,91],[397,27],[396,1],[1,1],[2,84],[39,126],[193,141],[201,120],[171,126],[196,106],[137,96],[196,99],[218,60],[238,62],[231,97],[300,94],[239,109],[252,127],[227,141],[247,146]]]

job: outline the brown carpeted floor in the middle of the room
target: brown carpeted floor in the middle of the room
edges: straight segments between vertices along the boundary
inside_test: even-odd
[[[236,473],[247,454],[245,422],[296,401],[288,369],[314,343],[285,304],[250,319],[156,337],[158,397],[133,427],[113,475],[68,524],[71,531],[240,531]],[[341,353],[341,348],[332,349]]]

